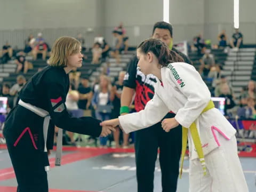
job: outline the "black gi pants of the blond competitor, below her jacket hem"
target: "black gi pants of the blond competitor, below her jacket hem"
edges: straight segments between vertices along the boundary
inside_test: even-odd
[[[48,192],[45,154],[33,147],[29,134],[23,135],[16,147],[8,139],[6,144],[18,182],[17,192]]]

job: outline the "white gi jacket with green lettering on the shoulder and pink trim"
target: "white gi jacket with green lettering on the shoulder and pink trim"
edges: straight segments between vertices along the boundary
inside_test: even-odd
[[[236,130],[218,109],[213,108],[201,114],[211,94],[193,66],[183,62],[170,63],[161,69],[161,75],[163,86],[158,80],[155,95],[144,110],[118,117],[125,133],[154,125],[171,110],[182,126],[189,128],[191,123],[196,123],[204,155],[220,145],[218,137],[227,140],[233,137]],[[188,142],[190,159],[198,158],[190,131]]]

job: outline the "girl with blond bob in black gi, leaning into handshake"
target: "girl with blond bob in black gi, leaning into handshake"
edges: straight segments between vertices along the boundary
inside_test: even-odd
[[[48,191],[47,150],[53,147],[54,125],[93,137],[106,137],[113,130],[108,126],[101,127],[100,121],[92,117],[72,118],[68,115],[65,106],[68,73],[81,67],[82,60],[81,44],[75,38],[57,39],[49,66],[36,73],[23,87],[19,105],[6,118],[3,133],[18,192]]]

